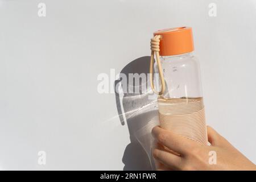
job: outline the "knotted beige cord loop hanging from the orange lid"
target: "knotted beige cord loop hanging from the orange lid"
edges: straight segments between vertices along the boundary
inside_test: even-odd
[[[155,35],[154,38],[151,39],[150,42],[150,47],[151,47],[151,57],[150,57],[150,84],[151,84],[151,88],[152,90],[158,94],[158,95],[162,95],[164,93],[164,90],[166,89],[166,84],[164,82],[164,76],[163,76],[163,71],[162,71],[162,65],[160,63],[160,56],[159,56],[159,51],[160,51],[160,47],[159,47],[159,43],[160,43],[160,38],[161,35]],[[154,73],[154,55],[156,55],[156,63],[158,64],[158,72],[159,72],[159,76],[160,76],[160,81],[161,81],[161,90],[160,92],[157,92],[155,89],[155,85],[154,85],[154,80],[153,80],[153,73]]]

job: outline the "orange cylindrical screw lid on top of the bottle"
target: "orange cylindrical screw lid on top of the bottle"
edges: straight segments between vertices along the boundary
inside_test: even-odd
[[[161,35],[160,56],[180,55],[194,50],[191,27],[167,28],[154,32]]]

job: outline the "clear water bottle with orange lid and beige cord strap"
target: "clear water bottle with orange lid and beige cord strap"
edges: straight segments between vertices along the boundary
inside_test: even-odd
[[[207,144],[200,65],[193,50],[191,27],[154,32],[151,39],[151,88],[159,95],[160,127]],[[154,55],[161,83],[159,92],[154,85]]]

